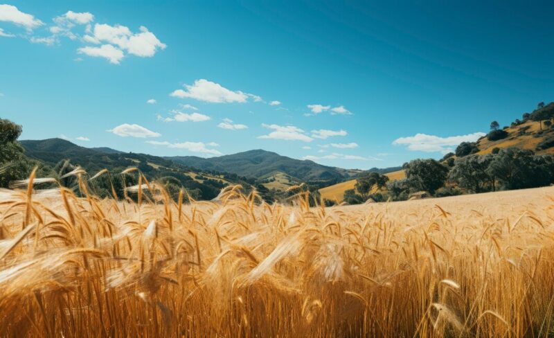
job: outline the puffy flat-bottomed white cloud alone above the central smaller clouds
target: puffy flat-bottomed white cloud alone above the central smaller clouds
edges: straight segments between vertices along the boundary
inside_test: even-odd
[[[210,103],[246,103],[249,96],[242,91],[231,91],[222,87],[221,84],[208,81],[206,79],[195,80],[195,83],[185,84],[186,91],[177,89],[170,96],[177,98],[194,98],[195,100],[206,101]]]

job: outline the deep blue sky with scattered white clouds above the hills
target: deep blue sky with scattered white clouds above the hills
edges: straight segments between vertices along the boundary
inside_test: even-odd
[[[365,169],[550,102],[551,4],[383,2],[0,2],[0,117],[21,139]]]

